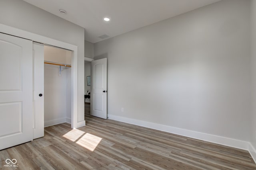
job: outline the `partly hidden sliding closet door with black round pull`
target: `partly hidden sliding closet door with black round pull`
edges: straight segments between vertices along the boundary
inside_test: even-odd
[[[33,42],[33,139],[44,136],[44,44]]]

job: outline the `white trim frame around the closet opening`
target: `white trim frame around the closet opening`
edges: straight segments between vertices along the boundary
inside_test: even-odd
[[[42,35],[24,31],[18,28],[10,27],[8,25],[4,25],[1,23],[0,23],[0,32],[25,38],[25,39],[29,39],[38,43],[44,43],[47,45],[52,45],[52,46],[73,51],[72,68],[71,68],[71,74],[72,74],[71,128],[78,128],[78,127],[84,126],[85,121],[78,122],[78,47],[76,45],[64,43],[56,39],[44,37]]]

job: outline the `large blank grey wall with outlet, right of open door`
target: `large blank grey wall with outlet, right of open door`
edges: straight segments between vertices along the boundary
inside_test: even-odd
[[[250,141],[249,19],[223,0],[95,43],[108,115]]]

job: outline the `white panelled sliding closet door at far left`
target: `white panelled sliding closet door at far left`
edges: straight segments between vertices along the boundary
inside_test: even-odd
[[[0,33],[0,150],[33,139],[32,41]]]

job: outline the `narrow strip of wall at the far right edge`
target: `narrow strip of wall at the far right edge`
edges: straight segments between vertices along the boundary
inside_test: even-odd
[[[251,1],[251,131],[250,140],[256,149],[256,0]],[[256,158],[256,150],[254,150]]]

